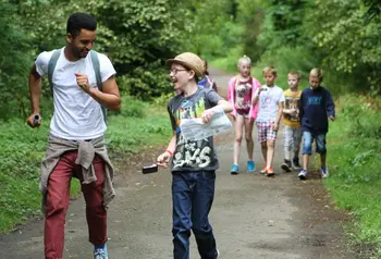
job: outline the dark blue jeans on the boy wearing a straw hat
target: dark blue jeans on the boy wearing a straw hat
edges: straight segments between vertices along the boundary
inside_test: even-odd
[[[216,239],[208,214],[214,198],[214,171],[173,172],[173,258],[189,258],[193,231],[201,259],[216,259]]]

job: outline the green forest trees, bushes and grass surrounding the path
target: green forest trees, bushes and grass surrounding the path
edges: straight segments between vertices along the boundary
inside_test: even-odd
[[[109,148],[132,155],[169,139],[165,102],[173,95],[165,60],[184,51],[213,67],[236,72],[243,54],[251,74],[274,65],[286,88],[290,71],[321,67],[339,116],[331,126],[332,177],[324,185],[337,207],[355,215],[348,233],[381,247],[380,83],[378,0],[0,0],[0,232],[39,214],[39,162],[52,114],[44,82],[38,131],[29,114],[28,72],[41,51],[65,45],[73,12],[97,17],[95,49],[112,60],[123,108],[110,116]],[[158,109],[158,108],[161,109]],[[126,131],[128,128],[128,131]],[[139,148],[134,148],[138,146]],[[332,153],[332,155],[331,155]],[[115,156],[118,157],[118,156]],[[73,195],[78,186],[73,185]]]

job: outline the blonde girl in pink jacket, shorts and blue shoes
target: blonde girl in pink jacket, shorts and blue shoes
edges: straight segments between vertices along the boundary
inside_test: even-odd
[[[254,92],[260,87],[260,83],[250,76],[251,60],[244,55],[237,63],[238,75],[229,81],[228,101],[233,106],[231,115],[234,119],[234,155],[231,174],[238,174],[239,150],[245,128],[246,149],[247,149],[247,172],[255,171],[255,162],[253,158],[253,125],[258,113],[258,106],[253,104]]]

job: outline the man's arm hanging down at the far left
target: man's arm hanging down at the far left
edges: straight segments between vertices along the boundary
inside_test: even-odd
[[[37,123],[34,122],[35,115],[39,115],[39,98],[41,96],[41,76],[36,71],[36,65],[32,66],[29,73],[29,97],[30,97],[30,108],[32,114],[26,120],[26,123],[30,127],[38,127],[41,124],[41,120],[39,119]]]

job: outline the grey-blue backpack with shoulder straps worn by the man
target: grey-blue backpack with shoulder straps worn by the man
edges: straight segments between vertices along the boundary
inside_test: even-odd
[[[52,84],[53,72],[54,72],[54,69],[57,65],[57,61],[60,58],[60,54],[61,54],[60,49],[54,50],[53,54],[51,55],[49,63],[48,63],[48,79],[49,79],[51,92],[53,92],[53,84]],[[95,72],[96,79],[97,79],[97,86],[98,86],[98,89],[101,91],[102,90],[102,79],[100,76],[100,66],[99,66],[98,54],[94,50],[90,50],[89,54],[91,58],[91,63],[93,63],[94,72]],[[101,106],[101,109],[102,109],[105,123],[107,124],[107,109],[105,106]]]

